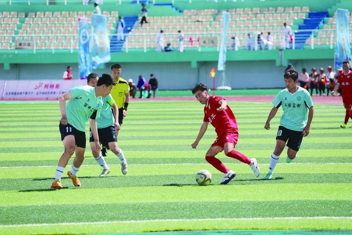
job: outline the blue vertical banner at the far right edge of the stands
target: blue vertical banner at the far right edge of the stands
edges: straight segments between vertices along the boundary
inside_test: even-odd
[[[342,62],[351,59],[349,46],[348,10],[337,9],[335,69],[342,67]]]

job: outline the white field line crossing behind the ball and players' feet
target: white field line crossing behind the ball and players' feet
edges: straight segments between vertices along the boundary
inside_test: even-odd
[[[1,163],[1,162],[0,162]],[[227,165],[243,165],[243,163],[223,163]],[[290,165],[350,165],[352,163],[290,163]],[[109,166],[121,166],[120,164],[108,164]],[[155,164],[128,164],[128,166],[204,166],[208,163],[155,163]],[[260,166],[268,166],[269,163],[259,164]],[[287,163],[278,163],[277,165],[287,165]],[[87,164],[81,167],[96,167],[98,164]],[[16,168],[52,168],[52,166],[19,166],[19,167],[0,167],[0,169],[16,169]]]

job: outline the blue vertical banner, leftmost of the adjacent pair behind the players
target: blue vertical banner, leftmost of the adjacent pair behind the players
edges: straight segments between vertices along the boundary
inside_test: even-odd
[[[79,77],[80,79],[86,79],[92,71],[88,18],[78,18],[78,35]]]

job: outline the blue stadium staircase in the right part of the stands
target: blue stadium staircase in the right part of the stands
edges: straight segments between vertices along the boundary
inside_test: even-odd
[[[303,25],[299,25],[299,30],[307,30],[295,33],[295,48],[303,49],[306,40],[311,37],[312,31],[318,29],[324,23],[324,18],[329,17],[328,12],[309,12],[308,18],[303,20]]]

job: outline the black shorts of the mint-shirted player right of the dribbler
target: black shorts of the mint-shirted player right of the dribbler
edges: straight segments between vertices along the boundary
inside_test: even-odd
[[[286,146],[298,151],[302,143],[303,131],[290,130],[286,127],[279,126],[276,139],[285,141],[285,143],[288,140]]]

